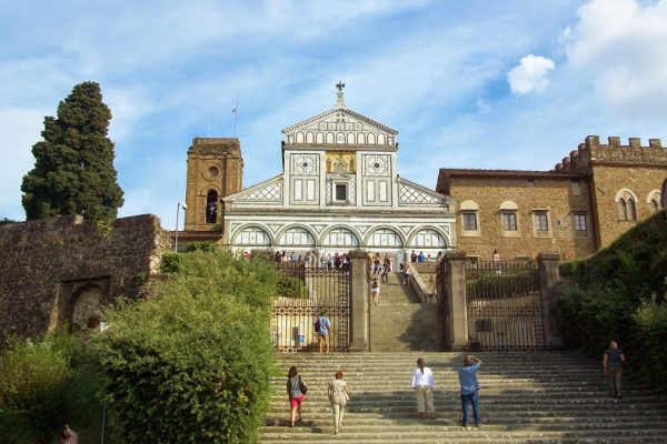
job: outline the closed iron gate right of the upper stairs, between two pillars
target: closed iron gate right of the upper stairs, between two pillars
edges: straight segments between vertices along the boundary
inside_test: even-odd
[[[466,297],[470,349],[545,349],[539,274],[532,261],[469,262]]]

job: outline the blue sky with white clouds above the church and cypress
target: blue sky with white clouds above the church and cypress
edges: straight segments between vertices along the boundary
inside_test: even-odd
[[[246,186],[281,171],[281,130],[336,103],[399,131],[399,173],[549,170],[587,134],[667,145],[667,0],[2,0],[0,218],[44,115],[100,83],[120,215],[173,229],[195,137],[233,135]],[[182,219],[181,219],[182,220]]]

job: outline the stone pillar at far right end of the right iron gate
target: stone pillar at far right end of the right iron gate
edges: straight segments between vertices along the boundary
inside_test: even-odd
[[[537,266],[539,270],[539,293],[541,299],[542,323],[545,327],[545,346],[547,350],[564,347],[563,337],[556,326],[556,307],[551,287],[560,279],[558,274],[558,253],[539,253]]]

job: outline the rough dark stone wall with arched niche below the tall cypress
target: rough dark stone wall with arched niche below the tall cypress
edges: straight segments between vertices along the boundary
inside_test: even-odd
[[[106,238],[80,216],[0,226],[0,343],[96,326],[101,306],[140,294],[170,248],[152,214],[118,219]]]

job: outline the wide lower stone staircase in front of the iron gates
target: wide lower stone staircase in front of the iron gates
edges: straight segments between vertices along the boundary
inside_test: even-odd
[[[436,420],[416,415],[411,372],[424,357],[436,379]],[[667,400],[626,382],[607,393],[601,364],[575,353],[480,353],[482,426],[460,427],[459,353],[292,353],[279,355],[260,443],[666,443]],[[285,375],[297,365],[309,385],[303,422],[288,427]],[[352,397],[334,435],[327,384],[345,373]]]

